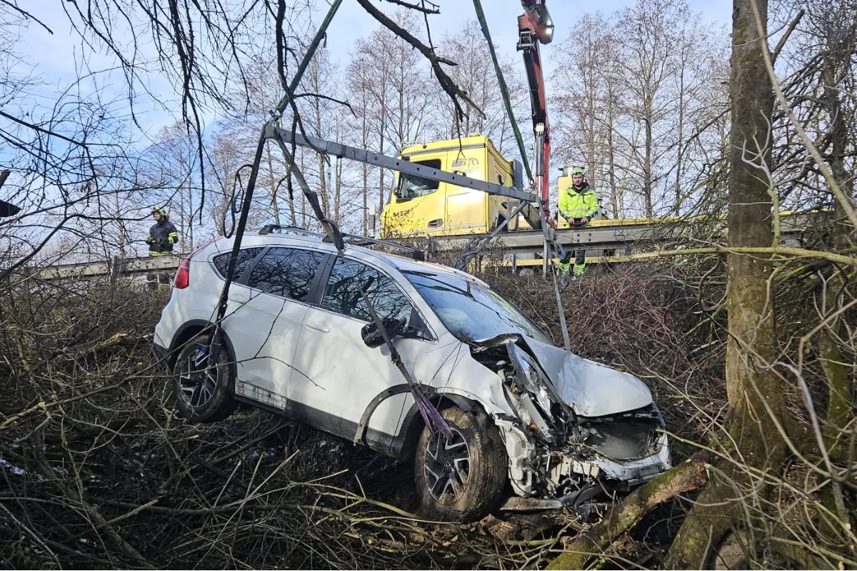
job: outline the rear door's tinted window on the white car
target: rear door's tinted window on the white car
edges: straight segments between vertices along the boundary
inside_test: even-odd
[[[267,294],[306,301],[324,258],[325,254],[320,252],[273,247],[256,262],[249,286]]]

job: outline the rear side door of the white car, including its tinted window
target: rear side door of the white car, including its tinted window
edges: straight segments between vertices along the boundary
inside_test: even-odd
[[[236,345],[237,395],[286,409],[297,339],[326,260],[313,250],[269,247],[249,270],[226,329]]]

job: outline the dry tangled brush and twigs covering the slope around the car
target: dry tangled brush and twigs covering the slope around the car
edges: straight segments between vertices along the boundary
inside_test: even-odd
[[[726,411],[720,273],[716,261],[702,273],[592,267],[563,292],[572,350],[644,378],[674,434],[676,461],[699,445],[725,454],[716,449]],[[561,339],[550,282],[494,270],[482,277]],[[789,291],[777,301],[788,330],[783,355],[807,327],[794,318],[800,303]],[[164,295],[90,283],[19,287],[6,299],[4,567],[534,568],[580,528],[572,514],[431,524],[411,514],[411,467],[397,461],[257,411],[239,409],[218,425],[178,419],[150,348]],[[846,356],[853,360],[853,350]],[[823,403],[812,359],[804,372]],[[793,406],[806,416],[799,401]],[[812,562],[847,564],[843,542],[853,532],[818,539],[819,514],[830,513],[822,463],[807,453],[782,477],[754,475],[776,493],[747,490],[748,520],[758,537],[800,545]],[[854,485],[838,489],[851,509]],[[660,506],[605,556],[622,567],[656,565],[688,505]],[[824,549],[837,555],[818,555]],[[788,566],[794,559],[782,552],[763,550],[758,560]]]

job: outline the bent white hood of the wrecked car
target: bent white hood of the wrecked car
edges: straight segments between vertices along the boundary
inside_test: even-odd
[[[648,406],[651,392],[643,381],[553,345],[524,337],[563,401],[580,416],[624,413]]]

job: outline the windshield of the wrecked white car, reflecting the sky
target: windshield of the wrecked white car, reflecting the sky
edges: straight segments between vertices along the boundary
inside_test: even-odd
[[[480,341],[503,333],[523,333],[553,345],[536,324],[493,289],[459,277],[403,273],[453,335]]]

